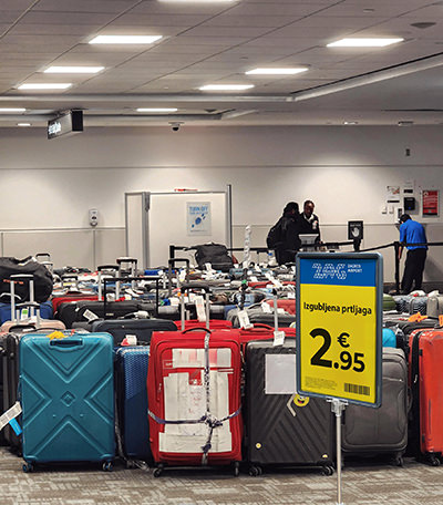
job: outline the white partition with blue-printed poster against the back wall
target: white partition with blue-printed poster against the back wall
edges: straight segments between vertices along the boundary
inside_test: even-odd
[[[125,213],[126,254],[145,268],[165,265],[171,245],[231,244],[230,186],[225,192],[126,193]]]

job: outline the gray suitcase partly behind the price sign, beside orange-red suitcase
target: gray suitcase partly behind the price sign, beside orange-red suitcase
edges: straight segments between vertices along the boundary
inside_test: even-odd
[[[382,405],[348,405],[341,447],[353,455],[392,454],[399,466],[408,445],[408,365],[401,349],[383,349]]]

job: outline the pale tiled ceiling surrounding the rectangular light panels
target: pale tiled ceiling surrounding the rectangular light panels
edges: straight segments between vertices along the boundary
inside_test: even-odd
[[[416,28],[414,23],[435,23]],[[59,111],[83,109],[86,125],[415,124],[443,123],[443,1],[0,0],[0,107],[24,106],[44,125]],[[91,45],[96,34],[159,34],[152,45]],[[327,48],[343,37],[400,37],[384,49]],[[441,56],[440,56],[441,54]],[[436,55],[436,56],[434,56]],[[432,59],[422,70],[415,60]],[[97,75],[44,74],[49,65],[104,65]],[[403,66],[409,68],[401,75]],[[257,66],[308,65],[292,76],[251,76]],[[396,66],[367,84],[352,78]],[[390,78],[390,79],[388,79]],[[336,92],[346,80],[349,89]],[[22,92],[30,82],[72,82],[64,92]],[[357,81],[356,81],[357,82]],[[251,83],[253,90],[207,94],[209,83]],[[332,86],[331,86],[332,84]],[[328,86],[331,86],[330,89]],[[329,91],[298,102],[306,90]],[[289,99],[289,100],[288,100]],[[291,100],[296,101],[291,101]],[[137,106],[176,106],[161,118]],[[233,114],[226,114],[231,111]],[[224,114],[225,112],[225,114]],[[27,116],[27,117],[24,117]]]

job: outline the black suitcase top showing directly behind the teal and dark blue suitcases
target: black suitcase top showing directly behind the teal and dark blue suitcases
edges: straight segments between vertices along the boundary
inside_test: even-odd
[[[137,341],[150,344],[153,331],[177,331],[177,326],[165,319],[104,319],[93,321],[91,331],[111,333],[114,346],[120,346],[128,334],[134,334]]]

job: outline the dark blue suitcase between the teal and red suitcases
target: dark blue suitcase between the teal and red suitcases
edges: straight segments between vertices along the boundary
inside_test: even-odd
[[[123,455],[151,463],[147,422],[147,346],[120,347],[116,354],[116,404]]]

